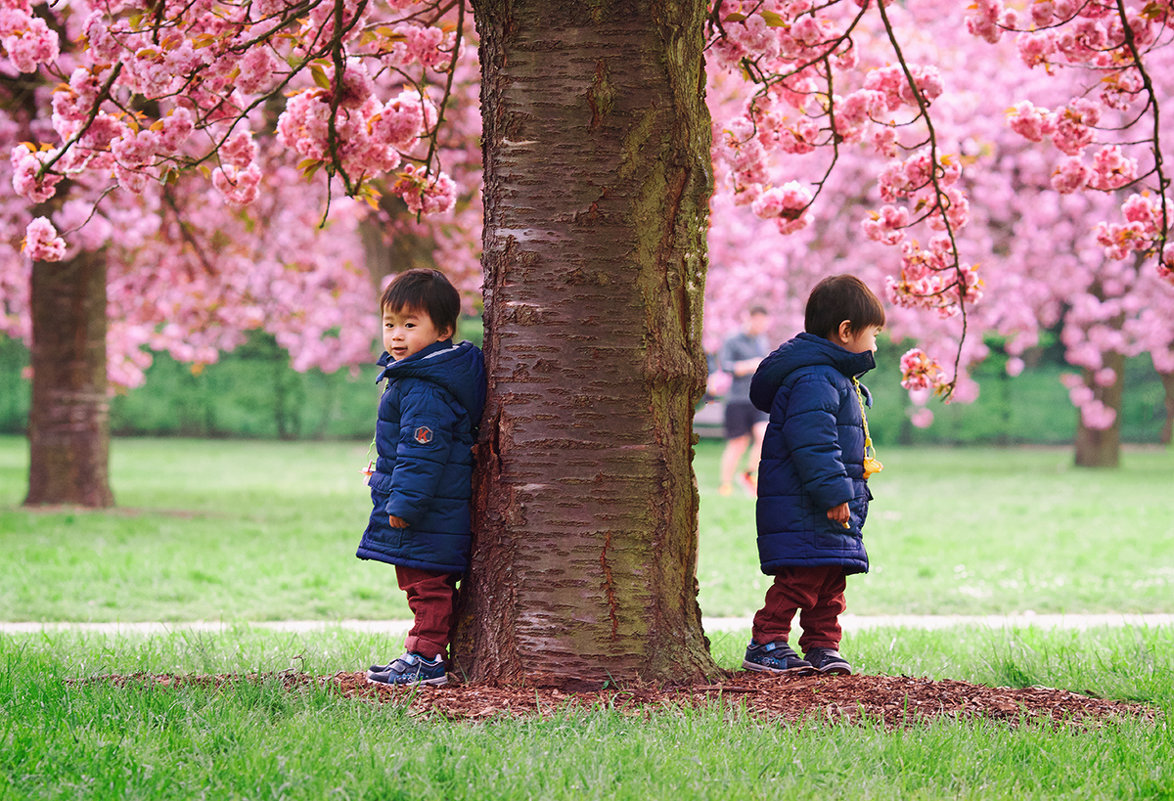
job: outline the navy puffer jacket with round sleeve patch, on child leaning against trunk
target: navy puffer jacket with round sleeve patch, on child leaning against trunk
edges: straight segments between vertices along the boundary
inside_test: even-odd
[[[468,567],[473,442],[485,406],[485,362],[445,339],[398,362],[387,354],[371,476],[371,518],[360,559],[444,573]],[[407,521],[392,529],[389,516]]]

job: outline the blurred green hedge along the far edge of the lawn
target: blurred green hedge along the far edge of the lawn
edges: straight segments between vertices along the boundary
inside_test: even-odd
[[[463,321],[461,335],[480,344],[479,321]],[[1054,345],[1032,355],[1031,366],[1011,378],[998,344],[979,366],[981,385],[973,404],[932,400],[929,429],[910,423],[910,400],[899,385],[897,363],[904,345],[884,342],[878,369],[866,383],[876,397],[870,415],[877,445],[886,444],[1062,444],[1072,442],[1077,412],[1060,376],[1072,369]],[[22,377],[28,352],[0,338],[0,432],[21,433],[28,418],[29,382]],[[147,383],[112,398],[112,431],[120,436],[255,437],[265,439],[365,439],[371,436],[378,388],[376,368],[326,375],[296,372],[265,334],[202,369],[156,355]],[[1156,443],[1165,420],[1163,390],[1148,356],[1126,368],[1122,439]],[[711,406],[703,420],[720,420]],[[701,425],[703,436],[720,426]]]

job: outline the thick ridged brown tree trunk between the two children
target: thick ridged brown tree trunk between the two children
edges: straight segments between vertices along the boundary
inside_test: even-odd
[[[713,675],[691,467],[704,2],[474,9],[490,399],[460,668],[565,686]]]

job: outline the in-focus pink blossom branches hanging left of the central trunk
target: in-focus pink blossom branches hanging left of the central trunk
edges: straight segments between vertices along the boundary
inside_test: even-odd
[[[390,175],[412,211],[447,210],[458,188],[437,163],[445,95],[433,97],[420,75],[451,75],[461,52],[448,5],[77,2],[43,19],[28,0],[4,0],[8,62],[60,81],[52,130],[12,149],[13,186],[45,203],[67,179],[142,193],[197,168],[245,206],[262,186],[254,135],[266,105],[283,99],[277,140],[306,174],[323,169],[331,186],[372,202],[372,180]],[[63,39],[82,47],[62,52]],[[377,83],[399,88],[377,93]],[[29,224],[26,254],[60,258],[52,222]]]

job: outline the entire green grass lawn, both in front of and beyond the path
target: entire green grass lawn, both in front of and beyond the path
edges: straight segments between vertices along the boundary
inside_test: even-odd
[[[403,618],[392,572],[353,550],[365,445],[120,439],[108,512],[28,511],[26,446],[0,438],[0,619]],[[716,494],[699,449],[702,608],[749,614],[753,504]],[[1172,612],[1169,451],[1116,471],[1064,450],[880,455],[869,613]],[[108,673],[329,675],[399,647],[333,627],[216,634],[0,635],[0,799],[1172,799],[1174,628],[849,632],[858,669],[1062,687],[1154,706],[1081,728],[938,720],[765,721],[736,701],[645,715],[419,719],[278,681],[70,684]],[[736,667],[747,632],[713,635]]]

